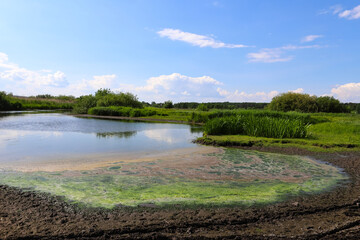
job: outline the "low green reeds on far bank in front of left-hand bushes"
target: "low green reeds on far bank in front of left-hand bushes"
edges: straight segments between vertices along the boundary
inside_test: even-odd
[[[100,116],[119,116],[119,117],[147,117],[157,114],[152,108],[131,108],[131,107],[93,107],[88,114]]]

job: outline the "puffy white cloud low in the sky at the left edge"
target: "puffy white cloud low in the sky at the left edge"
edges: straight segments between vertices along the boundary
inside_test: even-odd
[[[9,57],[5,53],[0,53],[0,79],[36,87],[64,87],[69,84],[61,71],[34,71],[22,68],[9,62]]]

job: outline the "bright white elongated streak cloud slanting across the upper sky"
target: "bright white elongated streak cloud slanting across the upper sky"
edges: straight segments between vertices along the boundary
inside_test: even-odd
[[[161,37],[167,37],[174,41],[182,41],[190,43],[198,47],[212,47],[212,48],[244,48],[248,47],[243,44],[229,44],[216,41],[212,37],[198,35],[195,33],[183,32],[179,29],[164,28],[157,32]]]

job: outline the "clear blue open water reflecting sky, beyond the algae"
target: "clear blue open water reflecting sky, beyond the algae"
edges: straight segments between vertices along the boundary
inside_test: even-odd
[[[196,148],[191,141],[201,135],[198,130],[184,124],[77,118],[60,113],[2,114],[0,163]]]

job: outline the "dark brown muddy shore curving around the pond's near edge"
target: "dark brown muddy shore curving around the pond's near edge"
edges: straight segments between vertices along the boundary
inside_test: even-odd
[[[359,239],[360,152],[248,149],[311,156],[351,181],[331,192],[250,209],[81,209],[48,194],[0,186],[0,239]]]

